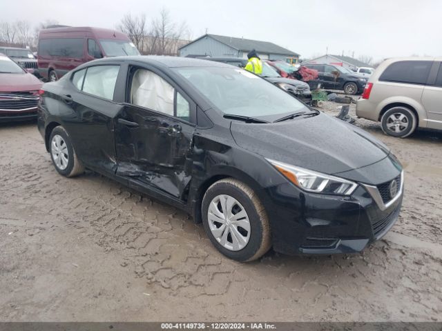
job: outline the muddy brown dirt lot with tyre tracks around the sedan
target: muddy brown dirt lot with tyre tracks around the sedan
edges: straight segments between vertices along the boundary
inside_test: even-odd
[[[0,320],[442,321],[442,134],[356,125],[405,165],[392,231],[363,254],[247,264],[168,205],[61,177],[35,123],[0,126]]]

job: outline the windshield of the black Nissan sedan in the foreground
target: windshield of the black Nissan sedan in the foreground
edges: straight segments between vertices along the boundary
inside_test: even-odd
[[[240,68],[174,68],[224,114],[274,117],[307,110],[295,97]]]

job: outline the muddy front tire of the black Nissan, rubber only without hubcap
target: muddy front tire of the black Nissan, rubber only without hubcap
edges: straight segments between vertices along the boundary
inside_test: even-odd
[[[224,248],[213,236],[209,225],[209,205],[220,196],[227,194],[236,199],[247,212],[250,222],[250,234],[247,245],[241,250],[233,251]],[[248,185],[236,179],[221,179],[213,183],[204,194],[202,200],[202,223],[207,236],[222,254],[230,259],[246,262],[262,257],[271,247],[270,224],[267,212],[256,193]]]

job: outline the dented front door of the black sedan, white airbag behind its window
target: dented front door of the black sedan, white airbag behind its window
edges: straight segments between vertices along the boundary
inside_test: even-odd
[[[127,89],[115,118],[117,174],[185,199],[195,104],[155,68],[129,67]]]

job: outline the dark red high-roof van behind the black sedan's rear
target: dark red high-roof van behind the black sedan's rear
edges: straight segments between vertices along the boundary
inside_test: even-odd
[[[117,30],[70,27],[41,30],[37,54],[39,74],[48,81],[57,81],[82,63],[140,52],[126,34]]]

